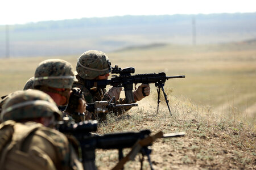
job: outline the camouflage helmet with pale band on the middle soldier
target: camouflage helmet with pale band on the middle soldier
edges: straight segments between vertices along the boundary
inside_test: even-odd
[[[47,86],[71,89],[77,80],[71,63],[63,59],[47,59],[35,71],[34,87]]]

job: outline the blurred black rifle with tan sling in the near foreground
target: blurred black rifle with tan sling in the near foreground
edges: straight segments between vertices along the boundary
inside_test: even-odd
[[[96,130],[97,121],[85,121],[79,122],[79,124],[73,124],[71,122],[64,124],[63,122],[60,122],[59,124],[59,131],[65,134],[71,134],[79,141],[82,150],[82,164],[84,169],[97,169],[95,165],[95,150],[97,148],[104,150],[118,150],[120,162],[113,169],[121,169],[128,160],[133,160],[138,152],[141,152],[143,157],[145,155],[147,156],[150,167],[153,169],[150,159],[151,150],[148,146],[152,145],[152,142],[154,142],[156,138],[181,137],[185,135],[184,132],[163,134],[162,131],[155,135],[150,135],[150,130],[104,135],[91,133]],[[132,150],[127,156],[123,157],[123,148],[132,148]],[[143,159],[141,160],[141,165],[142,163]]]

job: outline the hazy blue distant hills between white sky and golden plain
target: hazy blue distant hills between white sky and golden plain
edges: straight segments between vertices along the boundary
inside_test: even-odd
[[[195,19],[195,27],[193,27]],[[148,44],[216,44],[255,39],[256,13],[114,16],[9,25],[9,56],[77,55]],[[193,29],[195,28],[195,29]],[[6,27],[0,25],[0,57],[6,56]]]

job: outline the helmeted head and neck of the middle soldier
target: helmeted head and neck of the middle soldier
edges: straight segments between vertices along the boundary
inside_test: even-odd
[[[57,105],[67,104],[73,82],[73,67],[62,59],[47,59],[35,70],[34,88],[50,95]]]

